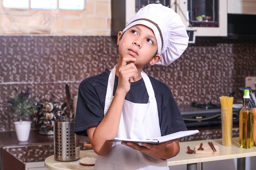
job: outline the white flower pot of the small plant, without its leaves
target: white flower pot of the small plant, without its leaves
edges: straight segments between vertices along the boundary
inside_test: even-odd
[[[18,141],[25,142],[29,140],[31,122],[30,121],[18,121],[14,122],[16,136]]]

